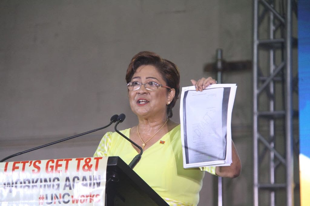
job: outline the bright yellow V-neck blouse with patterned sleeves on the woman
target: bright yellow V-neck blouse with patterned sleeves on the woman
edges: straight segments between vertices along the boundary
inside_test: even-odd
[[[121,132],[129,137],[130,129]],[[134,171],[169,205],[197,205],[204,171],[215,174],[215,167],[184,169],[180,137],[178,125],[143,152]],[[137,154],[125,138],[107,132],[94,157],[119,156],[129,164]]]

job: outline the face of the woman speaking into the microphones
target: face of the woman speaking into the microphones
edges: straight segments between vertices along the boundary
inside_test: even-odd
[[[152,65],[142,65],[131,78],[131,82],[137,81],[140,83],[156,82],[166,86],[166,82],[162,75]],[[138,117],[161,117],[167,116],[166,105],[168,101],[172,101],[175,94],[175,89],[170,91],[164,87],[158,87],[155,91],[146,90],[142,84],[139,90],[129,91],[129,104],[131,110]]]

